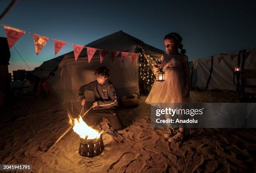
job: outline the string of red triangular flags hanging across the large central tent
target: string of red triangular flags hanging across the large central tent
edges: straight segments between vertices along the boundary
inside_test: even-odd
[[[0,24],[0,25],[3,25],[3,24]],[[9,48],[12,48],[14,46],[14,44],[26,33],[26,31],[23,31],[18,28],[13,28],[13,27],[10,27],[7,25],[3,25],[3,26],[5,29],[5,34],[6,34]],[[27,32],[27,33],[30,33],[30,32]],[[42,50],[42,48],[46,45],[47,41],[49,41],[50,39],[52,39],[52,38],[33,33],[33,41],[34,41],[37,56],[40,53],[40,51]],[[67,44],[67,42],[56,40],[56,39],[53,39],[53,40],[54,40],[54,53],[56,55],[61,50],[61,48],[63,48]],[[90,63],[90,61],[92,60],[92,58],[97,50],[100,51],[100,63],[102,63],[104,57],[109,52],[108,50],[90,48],[90,47],[86,47],[86,46],[80,46],[77,44],[72,44],[72,45],[74,48],[75,61],[77,61],[80,53],[82,52],[82,50],[84,48],[87,48],[88,63]],[[112,62],[115,60],[115,58],[118,56],[119,53],[120,53],[120,51],[111,51],[111,61]],[[122,63],[124,62],[125,57],[127,57],[129,55],[131,55],[132,64],[138,57],[138,53],[121,52]]]

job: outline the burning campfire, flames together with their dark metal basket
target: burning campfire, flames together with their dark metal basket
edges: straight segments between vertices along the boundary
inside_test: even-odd
[[[69,115],[69,124],[74,125],[73,130],[80,137],[79,154],[85,157],[94,157],[100,154],[103,149],[102,135],[95,129],[89,127],[82,119],[72,118]]]

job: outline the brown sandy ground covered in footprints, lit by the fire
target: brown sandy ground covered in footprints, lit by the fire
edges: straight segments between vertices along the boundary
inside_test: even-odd
[[[235,92],[191,92],[195,102],[238,102]],[[35,173],[155,173],[256,172],[255,129],[192,129],[184,142],[168,142],[164,130],[150,125],[150,105],[118,108],[127,131],[125,143],[103,135],[105,149],[95,158],[78,153],[79,136],[71,130],[49,153],[69,127],[67,107],[54,97],[26,97],[13,110],[1,109],[2,164],[32,164]],[[81,109],[73,104],[74,112]]]

